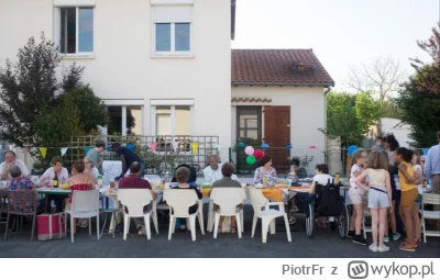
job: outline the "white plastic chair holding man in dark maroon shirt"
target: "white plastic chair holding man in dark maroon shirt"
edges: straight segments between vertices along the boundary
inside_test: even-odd
[[[127,234],[130,228],[130,217],[143,217],[145,222],[146,238],[151,239],[150,219],[153,217],[153,224],[158,234],[157,227],[157,213],[154,205],[154,199],[148,189],[119,189],[118,200],[122,204],[123,216],[124,216],[124,232],[123,239],[127,240]],[[152,210],[144,213],[144,206],[152,204]],[[125,213],[124,209],[128,209],[129,213]]]

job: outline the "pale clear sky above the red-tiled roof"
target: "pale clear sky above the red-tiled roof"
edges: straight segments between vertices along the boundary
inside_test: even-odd
[[[440,20],[440,0],[237,0],[232,48],[312,48],[346,90],[349,66],[380,57],[429,61],[416,41],[430,37]]]

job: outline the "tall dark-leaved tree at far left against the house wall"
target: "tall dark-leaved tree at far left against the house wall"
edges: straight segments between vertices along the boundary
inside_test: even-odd
[[[19,49],[18,61],[7,59],[0,68],[0,138],[16,146],[37,146],[37,126],[47,105],[55,102],[59,90],[79,85],[81,67],[75,64],[56,80],[59,54],[44,33],[37,44],[34,37]]]

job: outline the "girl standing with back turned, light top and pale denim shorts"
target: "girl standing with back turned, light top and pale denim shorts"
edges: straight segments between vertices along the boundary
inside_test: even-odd
[[[373,244],[372,251],[388,251],[389,247],[384,245],[384,233],[386,228],[386,214],[393,213],[392,186],[388,172],[388,159],[380,152],[373,152],[369,156],[369,168],[365,169],[355,180],[355,183],[363,189],[369,187],[363,183],[366,177],[370,181],[369,209],[372,214]]]

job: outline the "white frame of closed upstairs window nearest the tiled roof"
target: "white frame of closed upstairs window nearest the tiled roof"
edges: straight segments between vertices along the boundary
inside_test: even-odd
[[[156,51],[156,24],[170,24],[170,51]],[[176,51],[176,23],[189,24],[189,51]],[[193,22],[153,22],[152,56],[156,57],[193,57]]]

